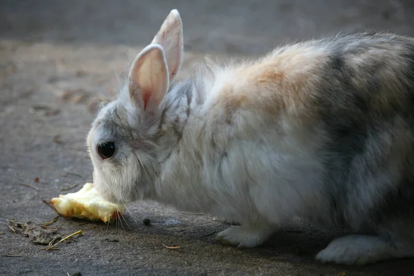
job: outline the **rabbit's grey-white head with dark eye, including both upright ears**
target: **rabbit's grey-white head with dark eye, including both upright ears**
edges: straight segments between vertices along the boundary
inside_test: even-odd
[[[159,171],[155,149],[162,101],[182,57],[181,19],[172,10],[133,61],[117,99],[99,110],[88,134],[93,182],[104,199],[126,203],[151,193]]]

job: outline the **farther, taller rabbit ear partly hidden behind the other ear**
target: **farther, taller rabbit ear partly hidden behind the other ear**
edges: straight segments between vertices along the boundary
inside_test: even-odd
[[[170,11],[151,43],[159,44],[164,49],[172,81],[183,61],[183,25],[178,10]]]

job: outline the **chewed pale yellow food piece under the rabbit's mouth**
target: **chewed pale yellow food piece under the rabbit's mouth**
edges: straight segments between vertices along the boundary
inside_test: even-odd
[[[91,183],[86,183],[76,193],[54,197],[50,199],[50,203],[63,217],[77,217],[91,221],[99,219],[108,222],[125,212],[124,205],[112,204],[104,200]]]

